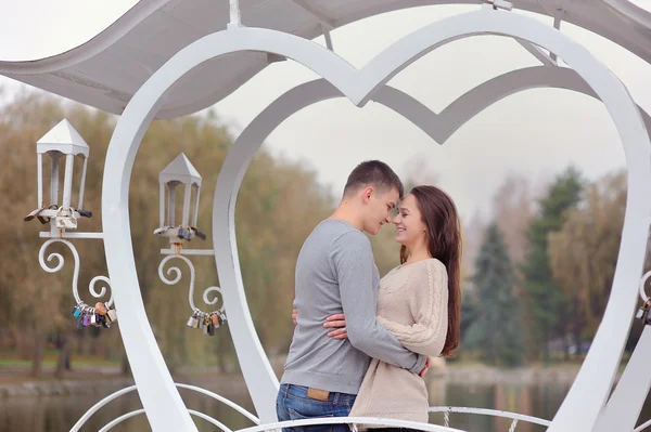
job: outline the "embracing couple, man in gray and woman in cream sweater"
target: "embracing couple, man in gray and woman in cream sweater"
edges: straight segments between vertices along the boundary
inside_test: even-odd
[[[392,222],[400,265],[380,278],[366,234]],[[430,356],[451,356],[459,344],[459,225],[454,201],[439,188],[422,185],[404,195],[399,178],[378,160],[353,170],[339,207],[296,261],[296,325],[277,398],[280,421],[427,422]],[[285,428],[321,431],[349,427]]]

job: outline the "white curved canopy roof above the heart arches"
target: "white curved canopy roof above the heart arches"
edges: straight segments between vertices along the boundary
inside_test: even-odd
[[[312,39],[383,12],[426,4],[476,4],[470,0],[242,0],[242,24]],[[548,16],[557,0],[512,0],[514,9]],[[565,0],[563,21],[597,32],[651,64],[651,13],[627,0]],[[122,114],[144,81],[168,58],[201,37],[225,29],[227,0],[141,0],[90,41],[29,62],[0,62],[0,74],[77,102]],[[5,17],[7,18],[7,17]],[[257,52],[206,62],[169,90],[158,118],[204,109],[269,64]]]

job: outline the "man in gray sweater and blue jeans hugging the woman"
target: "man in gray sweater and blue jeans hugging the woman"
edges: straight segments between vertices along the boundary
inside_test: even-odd
[[[425,372],[426,357],[405,349],[378,324],[380,274],[363,233],[391,221],[403,183],[384,162],[353,170],[334,213],[317,225],[296,261],[294,307],[299,311],[277,400],[280,421],[346,417],[371,357]],[[344,313],[347,339],[331,338],[326,318]],[[286,428],[349,432],[346,424]]]

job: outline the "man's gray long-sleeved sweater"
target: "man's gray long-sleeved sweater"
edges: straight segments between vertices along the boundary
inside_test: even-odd
[[[322,221],[296,261],[298,324],[281,383],[357,394],[370,357],[420,372],[425,356],[405,349],[378,324],[380,274],[368,237],[347,222]],[[346,315],[348,339],[328,337],[333,314]]]

